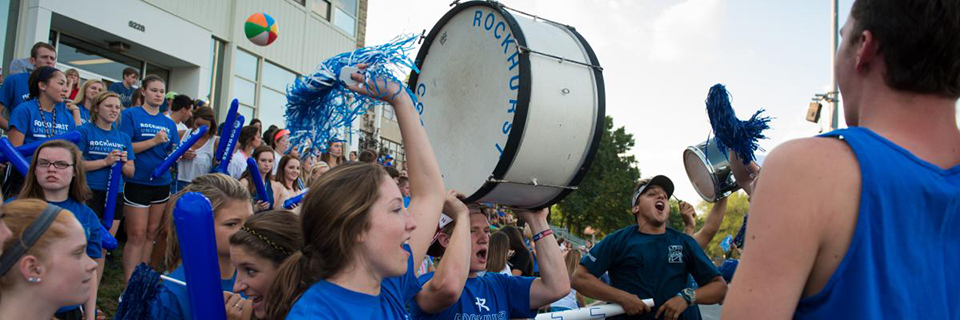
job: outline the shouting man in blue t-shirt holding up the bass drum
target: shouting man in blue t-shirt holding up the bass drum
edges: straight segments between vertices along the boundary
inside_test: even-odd
[[[570,280],[560,253],[560,245],[547,224],[548,209],[536,212],[514,209],[533,229],[533,241],[537,245],[537,261],[540,263],[542,278],[514,277],[498,273],[481,272],[487,268],[487,248],[490,240],[490,222],[484,211],[471,205],[469,217],[460,217],[441,228],[437,240],[427,254],[443,255],[444,248],[450,246],[450,235],[455,226],[470,224],[471,255],[470,272],[463,292],[456,303],[449,308],[444,304],[430,303],[418,295],[411,303],[414,319],[514,319],[533,318],[537,308],[549,305],[570,293]],[[468,219],[464,219],[468,218]],[[445,220],[441,218],[441,223]],[[428,273],[420,277],[420,283],[426,288],[434,277]],[[428,305],[429,304],[429,305]]]

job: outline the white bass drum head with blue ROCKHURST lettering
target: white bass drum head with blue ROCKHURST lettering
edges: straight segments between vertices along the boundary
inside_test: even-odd
[[[516,108],[529,101],[529,88],[519,87],[529,77],[529,62],[516,54],[522,39],[502,9],[459,5],[430,31],[417,56],[420,73],[410,78],[447,189],[474,200],[509,167],[512,159],[501,163],[501,155],[510,133],[523,130],[526,115]]]

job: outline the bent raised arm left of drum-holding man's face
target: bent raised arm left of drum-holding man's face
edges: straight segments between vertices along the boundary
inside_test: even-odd
[[[440,313],[460,300],[470,274],[470,210],[451,191],[444,202],[443,212],[455,215],[457,224],[433,278],[424,283],[423,289],[414,297],[426,313]]]

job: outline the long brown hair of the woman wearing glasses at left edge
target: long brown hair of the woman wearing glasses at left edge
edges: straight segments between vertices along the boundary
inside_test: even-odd
[[[27,176],[24,177],[23,189],[20,190],[19,198],[47,200],[47,196],[43,192],[43,187],[41,187],[37,181],[38,155],[40,151],[46,148],[61,148],[70,152],[70,157],[73,158],[73,179],[70,180],[70,193],[68,197],[80,203],[90,199],[91,192],[90,187],[87,186],[87,174],[86,171],[83,170],[83,157],[80,155],[80,149],[77,149],[77,145],[72,142],[60,139],[44,142],[37,148],[37,151],[33,152],[33,159],[30,160],[30,170],[27,172]]]

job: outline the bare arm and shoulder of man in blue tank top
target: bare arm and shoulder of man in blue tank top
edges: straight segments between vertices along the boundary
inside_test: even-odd
[[[773,150],[758,179],[745,239],[749,249],[723,317],[790,319],[797,302],[820,290],[846,252],[846,245],[824,245],[849,244],[859,207],[859,167],[839,140],[801,139]],[[818,271],[818,260],[832,267]]]

